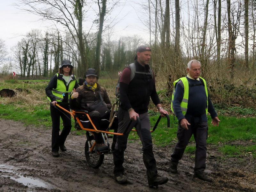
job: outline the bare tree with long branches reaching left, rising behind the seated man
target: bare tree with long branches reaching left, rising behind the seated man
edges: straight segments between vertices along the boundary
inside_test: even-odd
[[[64,25],[72,35],[77,45],[80,58],[77,60],[78,71],[86,68],[85,47],[83,30],[83,6],[84,0],[19,0],[17,4],[21,9],[42,17],[43,20],[51,20],[55,24]],[[74,33],[75,32],[75,33]]]

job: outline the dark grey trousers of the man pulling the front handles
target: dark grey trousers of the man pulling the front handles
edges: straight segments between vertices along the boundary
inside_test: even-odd
[[[115,151],[113,152],[114,158],[114,174],[118,176],[124,173],[124,150],[127,148],[127,139],[133,127],[136,128],[137,134],[140,137],[143,150],[143,162],[147,168],[148,180],[153,180],[157,176],[156,159],[153,154],[152,138],[150,133],[150,122],[148,113],[140,114],[141,129],[137,121],[133,121],[128,131],[123,136],[117,136]],[[128,111],[119,107],[118,109],[118,133],[124,133],[127,125],[130,122]]]

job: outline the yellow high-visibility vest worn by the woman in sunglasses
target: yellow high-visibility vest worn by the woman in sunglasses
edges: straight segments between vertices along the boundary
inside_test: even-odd
[[[72,79],[69,84],[68,84],[68,91],[66,91],[66,85],[64,83],[64,81],[58,79],[59,74],[57,73],[57,87],[56,89],[52,89],[52,94],[54,95],[56,101],[63,101],[64,96],[66,93],[68,93],[68,99],[70,98],[71,92],[73,91],[73,88],[75,87],[76,84],[76,76],[75,79]],[[64,92],[63,92],[64,91]],[[49,97],[47,97],[48,100],[51,101],[51,99]]]

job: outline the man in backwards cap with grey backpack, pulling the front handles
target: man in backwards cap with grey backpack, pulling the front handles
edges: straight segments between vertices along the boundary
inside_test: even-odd
[[[150,134],[150,122],[148,116],[148,104],[150,98],[156,105],[161,116],[168,114],[165,111],[156,93],[155,78],[152,76],[152,69],[148,63],[151,56],[151,49],[148,46],[139,46],[134,58],[135,75],[131,80],[131,67],[124,68],[120,77],[120,105],[118,108],[118,133],[124,133],[124,130],[132,120],[129,130],[124,136],[117,136],[114,156],[114,175],[117,183],[127,182],[124,175],[124,150],[127,147],[127,138],[133,127],[142,142],[143,162],[147,168],[148,186],[154,187],[164,184],[168,181],[167,177],[161,177],[157,174],[156,160],[153,154],[152,138]],[[136,118],[141,121],[139,128]]]

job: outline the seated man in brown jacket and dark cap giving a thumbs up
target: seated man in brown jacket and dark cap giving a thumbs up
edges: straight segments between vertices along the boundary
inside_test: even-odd
[[[110,112],[107,112],[106,115],[102,115],[97,110],[92,110],[92,104],[97,100],[103,100],[103,103],[106,105],[106,109],[111,109],[112,105],[108,98],[108,94],[104,87],[101,87],[100,84],[96,83],[99,77],[95,69],[88,69],[85,74],[85,82],[83,85],[74,89],[73,94],[70,97],[70,108],[73,110],[87,110],[89,116],[92,119],[93,124],[98,130],[105,131],[108,128]],[[82,119],[83,120],[83,119]],[[82,124],[83,121],[81,121]],[[117,125],[115,125],[117,124]],[[117,130],[118,122],[114,122],[112,127],[115,127]],[[90,124],[90,128],[93,129]],[[95,151],[105,152],[108,151],[108,146],[103,142],[102,134],[93,132],[94,139],[96,141]],[[116,144],[116,135],[114,135],[113,143],[111,148],[114,148]]]

